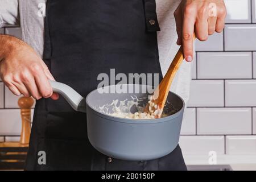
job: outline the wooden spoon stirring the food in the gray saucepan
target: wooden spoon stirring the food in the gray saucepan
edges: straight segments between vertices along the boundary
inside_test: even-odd
[[[194,33],[193,40],[195,39],[196,39],[196,35]],[[151,112],[154,111],[155,118],[161,117],[161,114],[163,113],[164,105],[166,104],[166,99],[170,90],[170,86],[183,60],[184,60],[183,48],[182,46],[180,46],[179,51],[176,53],[174,60],[172,60],[172,63],[168,68],[166,75],[164,76],[163,80],[160,82],[158,87],[155,89],[154,94],[151,100],[149,101],[149,104],[147,104],[147,106],[144,109],[144,112],[148,113],[148,111],[151,110]],[[157,105],[157,107],[152,108],[152,106],[150,106],[152,105],[152,103],[154,103],[153,105]],[[155,112],[155,110],[157,111]]]

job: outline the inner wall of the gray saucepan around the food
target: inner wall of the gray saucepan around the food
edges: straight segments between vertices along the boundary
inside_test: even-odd
[[[119,88],[122,88],[122,93]],[[86,97],[86,104],[103,114],[112,114],[114,107],[113,103],[119,106],[121,104],[120,101],[126,105],[127,103],[128,105],[129,103],[133,103],[128,101],[137,101],[137,105],[143,107],[148,102],[148,96],[151,95],[147,92],[147,90],[150,89],[152,90],[151,86],[133,84],[118,85],[118,88],[117,85],[105,86],[104,92],[102,92],[102,89],[96,89],[90,92]],[[164,107],[164,113],[170,113],[168,115],[174,114],[181,110],[183,105],[184,102],[179,96],[169,92],[167,103]],[[133,105],[130,109],[132,113],[136,111],[136,108],[134,109],[134,107],[135,106]]]

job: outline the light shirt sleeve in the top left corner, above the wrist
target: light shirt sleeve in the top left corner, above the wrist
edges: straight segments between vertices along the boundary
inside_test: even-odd
[[[18,0],[0,0],[0,28],[19,24]]]

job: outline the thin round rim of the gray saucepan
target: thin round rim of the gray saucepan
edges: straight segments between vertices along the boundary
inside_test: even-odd
[[[125,84],[125,85],[138,85],[138,84]],[[109,85],[111,86],[111,85]],[[148,85],[145,85],[148,86]],[[181,112],[183,112],[184,107],[185,107],[185,102],[183,100],[183,98],[181,98],[178,94],[171,92],[172,94],[174,94],[175,96],[179,97],[179,99],[182,101],[182,107],[179,111],[177,111],[176,113],[172,114],[172,115],[168,115],[167,117],[163,117],[163,118],[156,118],[156,119],[128,119],[128,118],[119,118],[119,117],[115,117],[109,114],[105,114],[105,113],[100,113],[100,111],[98,111],[97,109],[95,109],[92,105],[90,105],[88,103],[88,98],[90,97],[90,95],[94,92],[97,92],[97,89],[92,90],[85,98],[86,101],[86,105],[90,107],[90,109],[92,109],[94,111],[94,114],[97,114],[99,117],[102,117],[104,119],[108,119],[111,121],[115,121],[115,122],[121,122],[121,123],[130,123],[130,124],[155,124],[155,123],[161,123],[161,122],[170,122],[172,121],[174,118],[178,117],[180,115]],[[105,93],[102,93],[105,94]],[[88,114],[88,111],[86,112]]]

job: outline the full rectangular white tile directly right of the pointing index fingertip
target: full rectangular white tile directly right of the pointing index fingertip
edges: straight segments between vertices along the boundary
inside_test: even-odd
[[[252,78],[251,59],[251,52],[199,52],[197,78]]]

